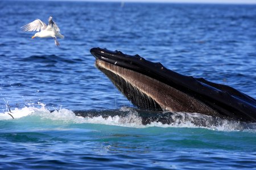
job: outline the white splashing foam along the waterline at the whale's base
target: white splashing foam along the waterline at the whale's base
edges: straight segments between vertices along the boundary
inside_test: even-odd
[[[108,117],[80,117],[76,116],[71,110],[60,108],[53,112],[45,108],[42,103],[31,104],[28,107],[21,109],[15,108],[10,112],[0,113],[0,120],[10,120],[13,119],[8,113],[10,113],[15,119],[22,118],[26,116],[36,116],[40,120],[52,120],[61,121],[66,124],[104,124],[104,125],[115,125],[115,126],[125,126],[130,128],[148,128],[148,127],[160,127],[160,128],[207,128],[211,130],[220,131],[237,131],[244,130],[239,122],[232,122],[228,120],[217,120],[218,124],[209,124],[207,127],[198,126],[193,123],[195,119],[201,118],[201,121],[211,122],[213,118],[210,116],[202,116],[198,113],[175,113],[172,117],[174,122],[169,124],[162,124],[161,122],[151,122],[150,124],[143,125],[142,118],[139,117],[138,112],[134,108],[122,107],[119,112],[128,112],[126,116],[108,116]],[[253,124],[253,129],[255,130],[256,124]]]

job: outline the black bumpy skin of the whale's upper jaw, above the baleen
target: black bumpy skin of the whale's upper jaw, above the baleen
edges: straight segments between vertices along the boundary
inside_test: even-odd
[[[167,84],[201,101],[224,117],[243,122],[256,122],[256,100],[230,86],[181,75],[167,69],[159,62],[147,61],[138,54],[130,56],[102,48],[92,48],[90,53],[96,59],[136,71]]]

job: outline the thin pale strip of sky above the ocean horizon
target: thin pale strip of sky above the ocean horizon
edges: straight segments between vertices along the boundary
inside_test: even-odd
[[[72,1],[72,0],[71,0]],[[241,3],[256,4],[256,0],[75,0],[100,2],[174,2],[174,3]]]

